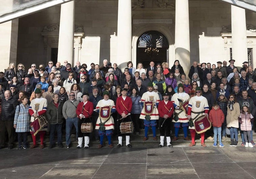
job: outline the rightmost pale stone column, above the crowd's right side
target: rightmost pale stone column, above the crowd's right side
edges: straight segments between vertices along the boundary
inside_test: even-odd
[[[232,59],[235,66],[248,61],[245,9],[231,5]]]

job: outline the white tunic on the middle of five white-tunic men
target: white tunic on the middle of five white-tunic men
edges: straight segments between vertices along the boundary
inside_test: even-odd
[[[142,95],[142,97],[141,97],[141,99],[140,99],[142,102],[147,102],[147,101],[154,101],[153,103],[159,103],[159,101],[160,101],[160,98],[159,98],[159,95],[158,95],[158,93],[156,93],[156,92],[154,92],[154,91],[152,91],[152,92],[149,92],[149,91],[147,91],[147,92],[145,92],[143,95]],[[147,106],[147,105],[145,105],[145,106]],[[148,110],[150,110],[149,108],[149,106],[147,107],[148,108]],[[145,107],[143,107],[143,109],[142,109],[142,112],[140,113],[140,116],[139,116],[139,118],[140,119],[145,119],[145,116],[146,116],[146,114],[145,114]],[[152,114],[150,115],[150,120],[158,120],[159,119],[159,113],[158,113],[158,110],[157,110],[157,108],[153,108],[153,112],[152,112]]]

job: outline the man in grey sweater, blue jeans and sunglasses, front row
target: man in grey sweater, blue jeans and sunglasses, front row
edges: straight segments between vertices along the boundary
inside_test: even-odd
[[[66,119],[66,148],[70,148],[70,132],[72,125],[76,128],[76,138],[78,138],[78,117],[76,114],[77,105],[79,101],[75,99],[75,93],[69,93],[69,100],[67,100],[62,108],[62,114]]]

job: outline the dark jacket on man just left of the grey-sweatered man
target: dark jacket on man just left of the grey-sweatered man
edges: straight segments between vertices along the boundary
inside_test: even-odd
[[[53,104],[53,101],[47,105],[46,115],[50,122],[50,124],[62,124],[63,123],[63,115],[62,115],[62,107],[64,102],[59,100],[58,108]]]

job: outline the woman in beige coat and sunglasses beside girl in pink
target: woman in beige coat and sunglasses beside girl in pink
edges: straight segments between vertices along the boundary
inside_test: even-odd
[[[240,116],[239,103],[236,102],[236,98],[233,94],[229,95],[228,101],[228,111],[227,111],[227,127],[230,130],[230,140],[231,144],[229,146],[237,146],[238,143],[238,117]],[[235,138],[234,138],[235,137]]]

